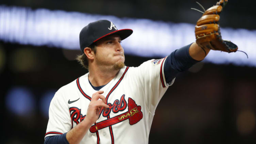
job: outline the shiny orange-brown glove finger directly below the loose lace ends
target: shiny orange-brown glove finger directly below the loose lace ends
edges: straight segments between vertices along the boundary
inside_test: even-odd
[[[220,20],[219,15],[204,15],[196,22],[197,26],[205,25],[208,23],[218,23]]]

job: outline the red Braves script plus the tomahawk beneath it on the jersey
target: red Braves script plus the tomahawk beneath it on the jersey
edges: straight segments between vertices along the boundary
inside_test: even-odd
[[[109,105],[109,108],[107,109],[107,111],[102,113],[102,116],[104,116],[104,117],[107,117],[111,111],[113,113],[124,111],[127,107],[125,95],[122,95],[120,100],[116,99],[113,102],[113,104],[108,103],[108,105]],[[78,109],[76,107],[69,108],[69,112],[70,112],[70,117],[72,119],[72,127],[71,128],[73,128],[73,123],[78,124],[79,119],[80,119],[80,122],[82,122],[86,116],[86,115],[83,116],[81,114],[81,109]],[[130,125],[133,125],[133,124],[138,123],[142,119],[142,117],[143,117],[143,114],[141,112],[141,106],[138,106],[132,98],[128,98],[128,111],[126,111],[125,113],[119,114],[115,117],[112,117],[112,118],[109,118],[104,121],[96,123],[95,125],[93,125],[90,128],[90,131],[92,133],[94,133],[97,130],[117,124],[126,119],[129,119]]]

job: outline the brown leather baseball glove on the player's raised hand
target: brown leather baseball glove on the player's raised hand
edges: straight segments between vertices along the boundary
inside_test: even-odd
[[[199,4],[199,3],[198,3]],[[236,52],[236,44],[223,40],[220,32],[220,13],[227,4],[227,0],[220,0],[216,5],[207,9],[203,16],[196,22],[196,44],[203,50],[205,48],[225,52]],[[203,6],[199,4],[204,10]],[[197,10],[199,11],[199,10]]]

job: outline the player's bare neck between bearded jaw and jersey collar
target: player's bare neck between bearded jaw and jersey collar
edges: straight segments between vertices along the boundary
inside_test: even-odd
[[[89,80],[93,86],[101,86],[109,83],[119,70],[107,70],[100,67],[89,67]]]

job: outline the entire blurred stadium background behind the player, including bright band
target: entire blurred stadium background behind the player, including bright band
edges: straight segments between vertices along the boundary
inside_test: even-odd
[[[217,1],[198,2],[208,8]],[[123,42],[127,51],[125,63],[127,66],[139,66],[195,40],[191,26],[201,14],[190,10],[191,7],[199,9],[191,0],[1,0],[2,143],[44,142],[49,103],[54,93],[87,73],[74,60],[80,54],[78,35],[81,25],[106,18],[113,20],[119,29],[132,28],[134,37],[131,35],[125,40],[127,42]],[[38,14],[38,10],[46,13]],[[31,13],[37,17],[29,23]],[[75,21],[74,27],[72,23],[72,26],[64,27],[66,20],[52,21],[49,18],[52,15],[48,13],[64,13],[78,19],[80,15],[82,24],[77,25]],[[150,144],[256,143],[255,14],[252,0],[228,2],[221,14],[221,28],[228,38],[239,44],[240,50],[249,54],[249,59],[240,52],[214,51],[208,59],[180,73],[157,107],[149,135]],[[19,21],[14,17],[19,17]],[[51,21],[47,21],[49,19]],[[47,27],[38,26],[38,21]],[[132,25],[134,22],[139,27]],[[53,23],[57,24],[51,26]],[[147,30],[143,27],[145,23],[150,31],[144,32],[153,38],[136,33],[135,30],[140,33]],[[59,26],[63,28],[54,31]],[[67,33],[72,31],[67,29],[70,27],[75,31],[74,35]],[[20,31],[21,28],[25,30]],[[166,43],[165,28],[171,30],[171,36],[167,35],[174,38],[170,39],[171,44]],[[28,29],[31,31],[26,31]],[[182,39],[187,35],[192,39]],[[149,38],[150,42],[147,42]]]

